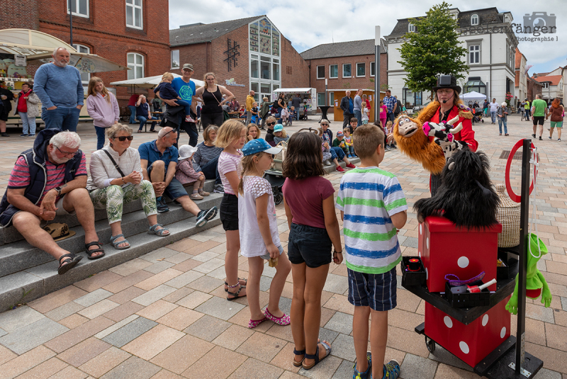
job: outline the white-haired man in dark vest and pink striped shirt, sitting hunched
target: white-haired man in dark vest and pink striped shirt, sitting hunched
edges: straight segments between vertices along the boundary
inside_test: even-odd
[[[29,244],[59,259],[60,275],[79,263],[82,256],[59,247],[40,226],[43,221],[77,215],[89,259],[104,256],[94,228],[94,207],[86,191],[86,160],[80,145],[81,138],[75,132],[39,132],[33,149],[18,157],[0,203],[0,224],[13,225]]]

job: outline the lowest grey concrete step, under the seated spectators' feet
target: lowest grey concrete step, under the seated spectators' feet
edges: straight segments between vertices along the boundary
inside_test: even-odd
[[[0,278],[0,312],[8,310],[18,302],[30,302],[47,293],[59,290],[77,281],[82,281],[95,273],[118,266],[126,261],[130,261],[130,259],[150,253],[179,241],[179,239],[190,237],[193,234],[220,224],[218,215],[204,227],[196,227],[195,222],[196,217],[191,217],[189,220],[180,220],[167,225],[170,232],[167,237],[157,237],[147,234],[147,232],[134,234],[128,237],[128,241],[132,245],[130,249],[116,250],[111,244],[104,244],[103,249],[106,251],[106,255],[100,259],[91,261],[86,259],[86,254],[81,253],[83,256],[82,261],[64,275],[57,274],[57,267],[59,266],[57,261],[49,261],[39,266],[26,268],[23,271],[3,276]],[[24,296],[24,294],[26,295]]]

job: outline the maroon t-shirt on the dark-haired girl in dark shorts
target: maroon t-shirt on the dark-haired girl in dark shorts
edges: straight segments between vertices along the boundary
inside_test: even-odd
[[[294,224],[325,229],[323,200],[335,193],[330,181],[322,176],[310,176],[301,180],[287,178],[282,191],[283,198],[291,209]]]

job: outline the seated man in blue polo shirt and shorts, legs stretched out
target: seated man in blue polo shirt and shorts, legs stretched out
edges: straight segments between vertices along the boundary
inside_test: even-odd
[[[137,150],[140,152],[140,164],[144,179],[152,182],[154,187],[157,213],[169,210],[165,203],[164,194],[181,204],[189,213],[197,216],[196,226],[202,227],[217,214],[217,208],[201,210],[187,195],[184,186],[175,176],[179,153],[174,143],[177,141],[177,132],[169,126],[157,133],[157,140],[144,142]]]

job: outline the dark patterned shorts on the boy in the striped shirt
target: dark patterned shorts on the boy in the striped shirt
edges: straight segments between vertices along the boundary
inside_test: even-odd
[[[349,273],[349,302],[355,307],[370,307],[383,312],[396,306],[395,267],[387,273]]]

